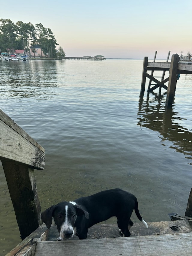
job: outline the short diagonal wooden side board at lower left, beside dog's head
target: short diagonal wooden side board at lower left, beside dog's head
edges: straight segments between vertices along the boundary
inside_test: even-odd
[[[6,254],[6,256],[13,256],[17,255],[19,251],[22,250],[29,242],[34,242],[35,244],[36,241],[46,241],[46,237],[48,236],[49,229],[46,228],[45,224],[42,224],[40,227],[38,227],[34,232],[32,232],[26,239],[22,240],[18,245],[16,245],[10,252]],[[37,240],[38,238],[38,240]]]

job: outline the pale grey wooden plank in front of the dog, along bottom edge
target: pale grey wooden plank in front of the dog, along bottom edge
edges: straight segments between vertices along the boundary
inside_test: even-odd
[[[191,233],[140,237],[37,242],[35,256],[191,256]]]

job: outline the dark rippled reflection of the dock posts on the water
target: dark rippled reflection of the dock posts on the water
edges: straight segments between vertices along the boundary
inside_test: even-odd
[[[182,126],[182,118],[174,112],[173,107],[165,111],[166,93],[157,95],[154,92],[147,95],[146,102],[139,100],[138,123],[141,127],[158,131],[161,134],[162,144],[169,140],[171,148],[182,152],[186,158],[192,160],[191,132]],[[154,97],[152,97],[154,96]],[[190,163],[192,165],[192,163]]]

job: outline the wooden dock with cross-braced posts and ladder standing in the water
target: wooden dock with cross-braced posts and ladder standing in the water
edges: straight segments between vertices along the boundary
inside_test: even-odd
[[[155,53],[155,58],[156,54],[157,51]],[[178,54],[173,54],[171,62],[168,62],[169,54],[170,52],[168,53],[167,62],[155,62],[155,58],[153,62],[148,62],[148,57],[144,57],[140,91],[140,98],[142,98],[145,92],[146,77],[149,78],[149,86],[147,89],[148,93],[157,88],[159,88],[159,92],[161,92],[161,88],[167,90],[166,108],[171,108],[173,104],[176,92],[176,84],[180,74],[192,74],[192,63],[179,62]],[[151,74],[147,73],[147,71],[151,71]],[[161,76],[155,77],[154,71],[163,71],[163,73]],[[165,78],[166,71],[169,71],[169,76],[167,78]],[[168,86],[165,85],[167,82]]]

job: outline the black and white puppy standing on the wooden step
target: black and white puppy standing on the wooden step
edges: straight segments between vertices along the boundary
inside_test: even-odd
[[[117,217],[117,224],[123,235],[131,236],[129,229],[133,226],[133,221],[130,218],[134,209],[137,218],[148,228],[139,213],[137,198],[119,188],[80,197],[72,202],[58,203],[42,212],[41,219],[50,228],[52,217],[54,218],[60,233],[58,240],[72,238],[74,233],[79,239],[86,239],[89,227],[113,216]]]

